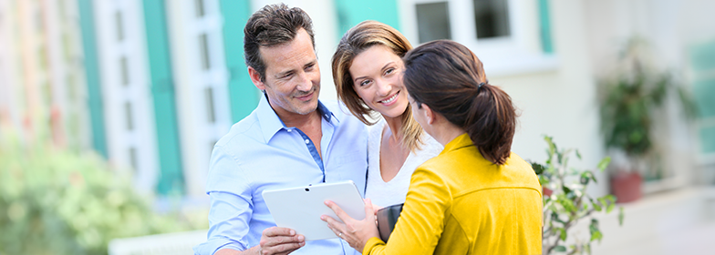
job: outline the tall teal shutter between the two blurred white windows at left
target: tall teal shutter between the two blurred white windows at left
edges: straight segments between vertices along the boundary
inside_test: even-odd
[[[144,0],[144,22],[149,53],[150,86],[154,99],[157,148],[161,177],[160,194],[183,194],[181,146],[176,119],[174,85],[171,76],[171,53],[163,0]]]

